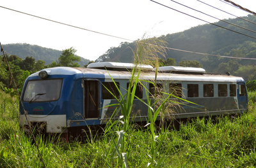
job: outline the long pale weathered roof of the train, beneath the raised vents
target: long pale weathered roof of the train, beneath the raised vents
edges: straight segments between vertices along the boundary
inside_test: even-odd
[[[106,80],[113,79],[130,79],[130,71],[116,71],[97,68],[85,68],[85,67],[52,67],[43,69],[49,75],[74,75],[79,74],[79,77],[83,78],[105,78]],[[202,71],[202,69],[200,69]],[[38,73],[31,74],[30,76],[38,76]],[[110,76],[109,76],[110,74]],[[143,80],[154,80],[156,71],[141,71],[140,78]],[[100,77],[99,77],[100,76]],[[60,78],[60,77],[59,77]],[[169,80],[169,81],[220,81],[220,82],[237,82],[244,81],[243,78],[232,76],[228,74],[209,74],[209,73],[170,73],[170,71],[157,72],[157,80]]]

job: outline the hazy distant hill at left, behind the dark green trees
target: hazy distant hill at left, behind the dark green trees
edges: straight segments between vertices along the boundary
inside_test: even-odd
[[[10,53],[11,55],[17,55],[21,59],[33,56],[33,58],[35,58],[36,60],[44,60],[46,65],[58,60],[61,55],[60,50],[45,48],[38,45],[29,45],[26,43],[3,45],[3,49],[6,53]],[[81,66],[84,66],[88,64],[88,62],[90,62],[90,60],[81,57],[81,61],[78,63]]]

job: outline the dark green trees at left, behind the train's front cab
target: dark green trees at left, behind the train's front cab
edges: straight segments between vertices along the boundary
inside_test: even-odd
[[[76,49],[72,47],[63,50],[58,60],[48,65],[45,65],[44,60],[36,60],[33,56],[21,59],[4,52],[0,60],[0,90],[11,95],[17,94],[17,90],[21,93],[24,81],[30,74],[47,67],[80,67],[79,62],[81,57],[76,55]]]

